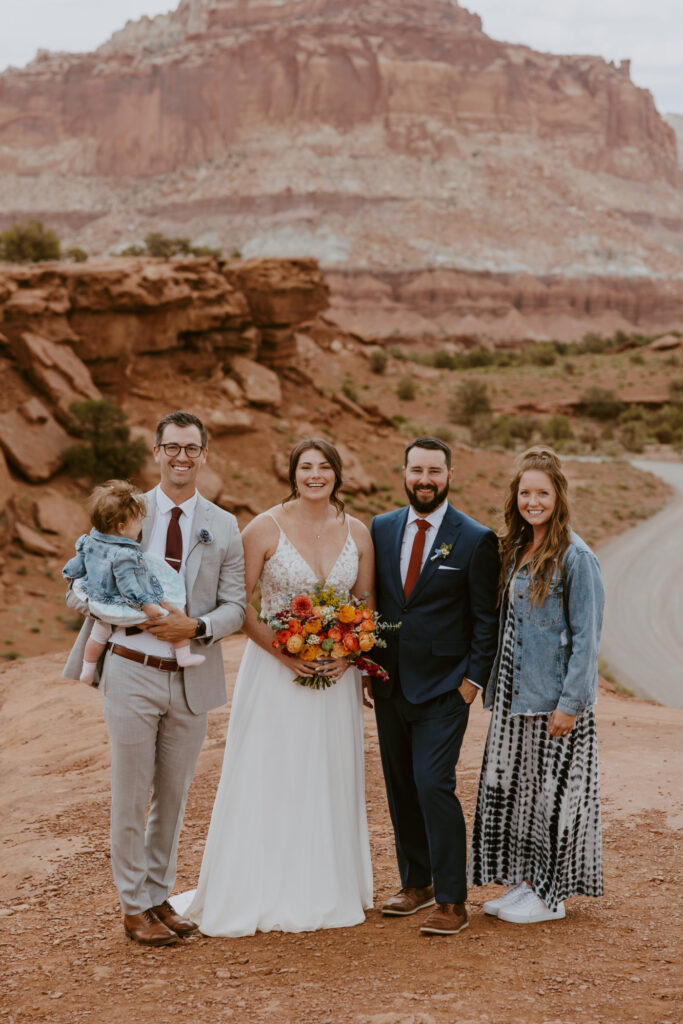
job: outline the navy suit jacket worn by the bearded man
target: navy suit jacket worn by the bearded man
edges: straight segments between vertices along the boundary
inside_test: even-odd
[[[449,504],[422,572],[408,599],[400,582],[400,546],[408,506],[373,519],[377,608],[399,630],[381,634],[386,648],[373,658],[389,674],[373,681],[377,696],[389,696],[400,678],[411,703],[458,689],[465,677],[482,686],[498,644],[498,539],[493,530]],[[445,558],[432,559],[440,545]]]

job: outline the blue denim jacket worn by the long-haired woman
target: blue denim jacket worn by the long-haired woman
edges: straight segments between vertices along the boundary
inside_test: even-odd
[[[605,600],[600,564],[588,545],[571,531],[562,565],[564,580],[558,573],[546,600],[535,607],[528,594],[527,568],[521,568],[515,579],[511,715],[543,715],[556,708],[578,715],[596,701]],[[493,707],[496,693],[511,575],[512,570],[501,607],[498,654],[486,686],[486,708]]]

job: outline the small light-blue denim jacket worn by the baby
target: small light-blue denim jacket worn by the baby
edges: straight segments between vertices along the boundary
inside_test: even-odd
[[[76,542],[76,555],[61,574],[66,580],[83,580],[83,589],[96,601],[112,601],[141,608],[158,602],[164,590],[142,558],[137,541],[113,534],[90,530]]]

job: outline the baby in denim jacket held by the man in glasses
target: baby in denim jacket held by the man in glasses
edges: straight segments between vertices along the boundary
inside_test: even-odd
[[[95,622],[85,645],[81,681],[92,684],[97,660],[113,626],[135,626],[160,618],[168,611],[158,603],[166,598],[183,608],[182,577],[158,555],[143,553],[138,537],[146,509],[143,496],[127,480],[108,480],[95,487],[88,502],[92,529],[76,542],[76,555],[61,574],[88,604]],[[189,640],[175,643],[178,666],[202,665]]]

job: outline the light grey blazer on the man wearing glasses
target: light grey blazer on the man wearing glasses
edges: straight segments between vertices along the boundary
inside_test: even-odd
[[[142,549],[146,547],[157,512],[156,489],[145,496],[147,514],[142,522]],[[198,534],[205,529],[212,537],[204,544]],[[185,563],[185,589],[187,614],[193,617],[210,615],[212,636],[208,640],[193,640],[197,653],[206,662],[196,668],[185,669],[184,686],[187,707],[194,714],[211,711],[225,703],[225,672],[219,640],[242,628],[247,610],[245,592],[245,560],[240,527],[233,515],[198,496],[191,525],[191,546]],[[83,604],[70,590],[67,603],[84,611]],[[83,652],[94,620],[88,616],[74,644],[63,675],[78,679],[83,666]],[[101,662],[98,665],[101,670]],[[95,677],[99,679],[99,673]]]

